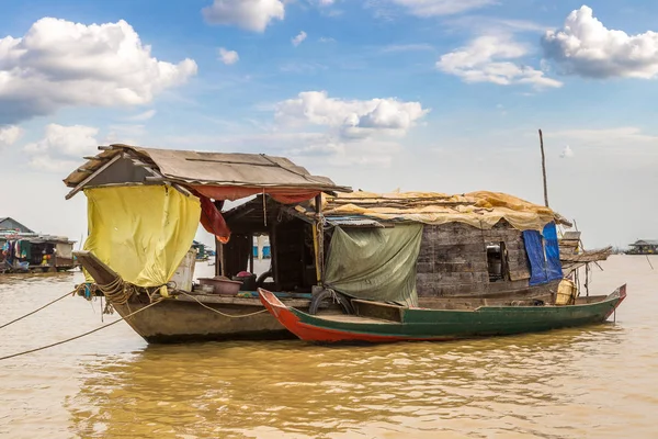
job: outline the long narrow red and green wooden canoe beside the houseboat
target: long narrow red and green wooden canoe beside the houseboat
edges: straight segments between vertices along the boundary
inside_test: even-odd
[[[354,315],[310,315],[284,305],[272,292],[259,289],[263,305],[303,340],[442,341],[458,338],[537,333],[602,323],[626,299],[626,285],[605,296],[578,297],[574,305],[515,306],[518,302],[470,309],[410,308],[352,300]]]

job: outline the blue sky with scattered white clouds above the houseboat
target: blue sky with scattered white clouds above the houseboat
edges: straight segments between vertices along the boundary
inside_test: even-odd
[[[490,190],[586,248],[658,238],[658,2],[0,0],[0,217],[124,143],[285,156],[354,189]],[[204,241],[212,241],[201,233]]]

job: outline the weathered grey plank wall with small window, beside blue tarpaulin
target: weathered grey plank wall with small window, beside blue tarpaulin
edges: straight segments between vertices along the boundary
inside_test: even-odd
[[[504,243],[509,275],[489,282],[487,243]],[[417,264],[419,297],[488,295],[527,289],[530,270],[522,233],[506,221],[490,230],[461,224],[426,225]]]

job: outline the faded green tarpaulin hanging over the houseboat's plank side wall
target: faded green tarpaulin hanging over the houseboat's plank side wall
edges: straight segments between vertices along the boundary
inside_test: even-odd
[[[325,284],[355,299],[417,306],[416,260],[421,237],[422,224],[336,227]]]

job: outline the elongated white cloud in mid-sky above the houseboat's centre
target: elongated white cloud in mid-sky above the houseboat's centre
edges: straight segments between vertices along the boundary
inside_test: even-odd
[[[285,124],[322,125],[345,137],[363,137],[377,132],[404,135],[428,112],[420,102],[393,98],[348,101],[329,98],[326,91],[305,91],[280,102],[275,117]]]

